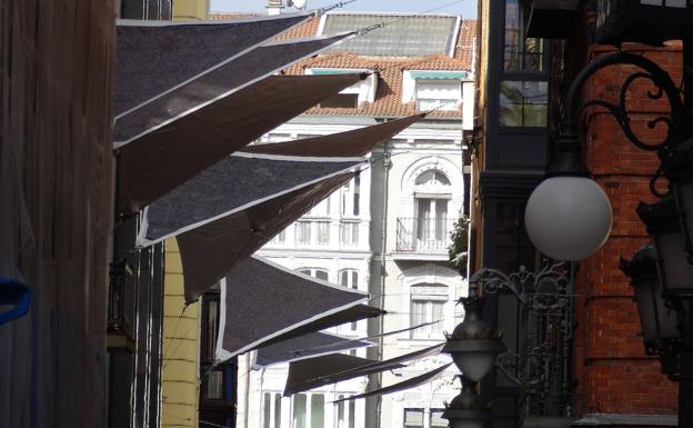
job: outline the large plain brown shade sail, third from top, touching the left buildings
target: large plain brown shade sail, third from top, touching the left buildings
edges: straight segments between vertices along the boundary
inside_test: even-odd
[[[124,212],[141,210],[362,77],[270,76],[141,137],[121,149],[119,203]]]

